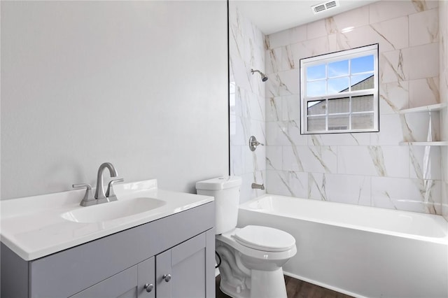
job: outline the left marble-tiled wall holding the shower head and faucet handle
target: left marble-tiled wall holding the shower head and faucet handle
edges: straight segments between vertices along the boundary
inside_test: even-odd
[[[265,83],[258,73],[251,73],[251,69],[265,72],[263,43],[262,32],[230,1],[230,173],[242,178],[241,203],[265,193],[253,190],[251,184],[266,184],[266,147],[258,146],[254,152],[248,147],[250,136],[266,143]]]

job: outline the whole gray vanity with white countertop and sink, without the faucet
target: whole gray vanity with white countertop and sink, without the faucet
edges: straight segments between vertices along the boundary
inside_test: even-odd
[[[214,198],[115,185],[1,201],[1,297],[214,297]]]

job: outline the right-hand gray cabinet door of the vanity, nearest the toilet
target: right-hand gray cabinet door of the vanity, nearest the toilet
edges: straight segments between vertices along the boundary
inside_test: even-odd
[[[207,238],[200,234],[155,257],[157,297],[206,297]]]

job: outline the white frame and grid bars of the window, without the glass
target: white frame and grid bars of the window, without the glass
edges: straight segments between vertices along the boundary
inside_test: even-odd
[[[318,97],[307,97],[307,67],[325,64],[328,68],[328,63],[337,62],[345,59],[354,59],[357,57],[363,57],[367,55],[373,55],[374,57],[374,87],[372,89],[366,90],[355,90],[347,91],[344,93],[333,93],[325,94]],[[350,69],[350,68],[349,68]],[[326,73],[326,71],[325,71]],[[349,73],[350,76],[350,73]],[[325,78],[328,83],[328,77]],[[315,57],[309,57],[300,59],[300,134],[340,134],[340,133],[351,133],[351,132],[379,132],[379,76],[378,76],[378,44],[366,45],[360,48],[353,48],[351,50],[343,50],[340,52],[332,52],[330,54],[319,55]],[[329,114],[328,113],[328,100],[337,99],[341,97],[351,97],[362,96],[362,95],[373,95],[373,111],[363,111],[363,112],[351,112],[351,108],[348,113],[340,114]],[[321,115],[308,115],[307,103],[309,101],[321,101],[325,100],[325,114]],[[351,106],[351,105],[350,105]],[[341,130],[329,130],[328,129],[328,118],[329,115],[349,115],[349,127],[351,127],[351,115],[356,114],[367,114],[373,113],[373,127],[369,129],[341,129]],[[319,131],[308,131],[308,118],[309,117],[323,117],[325,115],[325,130]]]

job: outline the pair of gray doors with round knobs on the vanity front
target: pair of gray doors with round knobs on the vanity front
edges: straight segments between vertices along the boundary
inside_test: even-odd
[[[206,297],[206,260],[207,234],[202,233],[71,298]]]

